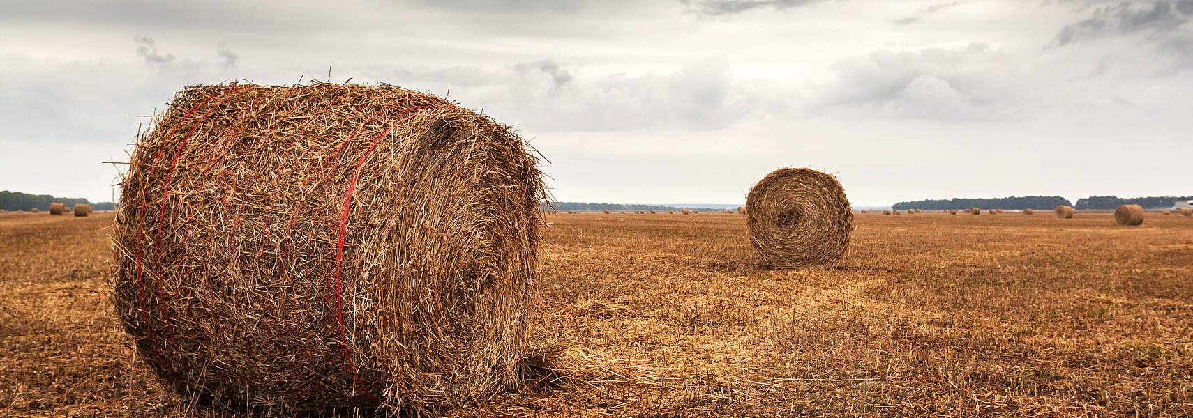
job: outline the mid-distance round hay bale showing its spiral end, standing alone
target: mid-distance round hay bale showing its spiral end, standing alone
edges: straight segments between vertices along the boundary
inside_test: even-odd
[[[845,256],[853,232],[849,200],[836,177],[781,168],[746,196],[750,244],[774,267],[821,266]]]

